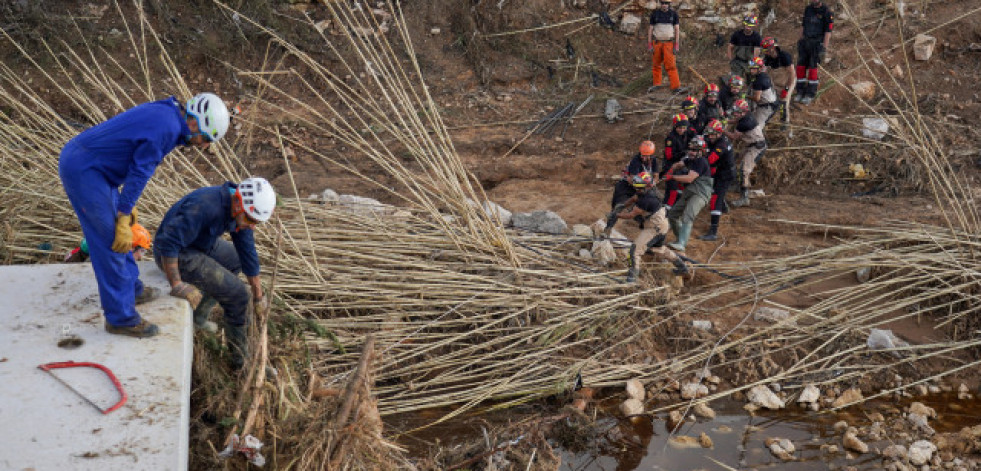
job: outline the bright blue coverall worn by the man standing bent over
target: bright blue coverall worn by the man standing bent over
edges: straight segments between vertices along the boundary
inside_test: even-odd
[[[180,103],[170,97],[86,129],[61,150],[58,174],[89,243],[99,299],[111,325],[140,323],[135,299],[143,291],[133,253],[112,251],[116,213],[133,211],[157,165],[190,135]]]

